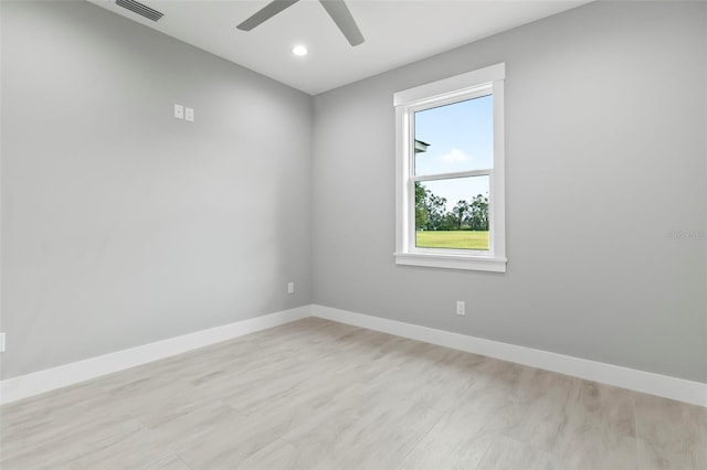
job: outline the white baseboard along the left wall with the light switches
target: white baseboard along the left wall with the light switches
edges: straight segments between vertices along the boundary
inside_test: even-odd
[[[312,306],[298,307],[8,378],[0,382],[0,404],[15,402],[310,316]]]

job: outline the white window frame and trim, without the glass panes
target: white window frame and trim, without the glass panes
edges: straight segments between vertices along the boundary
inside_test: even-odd
[[[504,63],[398,92],[395,107],[395,264],[433,268],[506,271],[506,185],[504,148]],[[414,175],[414,113],[493,95],[494,165],[490,170]],[[415,246],[414,183],[450,178],[489,177],[489,249]]]

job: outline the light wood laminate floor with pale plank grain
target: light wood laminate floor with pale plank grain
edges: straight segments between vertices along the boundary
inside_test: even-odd
[[[707,468],[707,410],[320,319],[0,408],[10,469]]]

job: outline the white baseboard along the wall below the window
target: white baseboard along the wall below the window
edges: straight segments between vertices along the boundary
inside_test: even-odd
[[[425,343],[707,406],[707,384],[314,305],[313,316]]]

